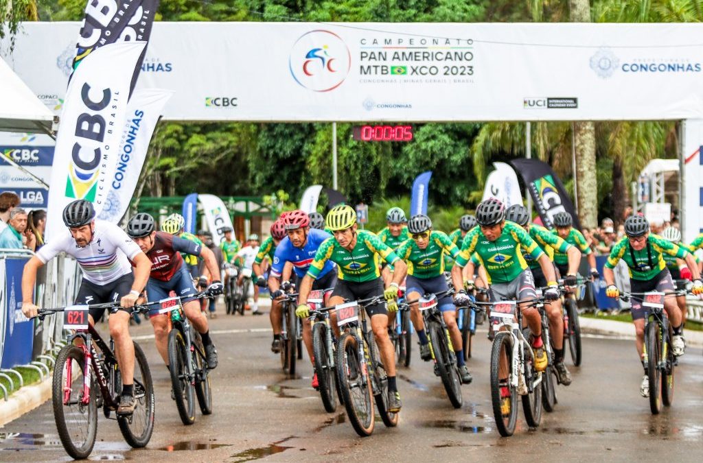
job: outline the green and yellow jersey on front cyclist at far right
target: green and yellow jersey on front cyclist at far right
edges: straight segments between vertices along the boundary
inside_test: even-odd
[[[666,241],[658,235],[650,234],[647,245],[636,251],[632,249],[628,237],[623,237],[610,252],[605,266],[615,268],[620,259],[624,260],[630,269],[630,278],[633,280],[652,280],[666,268],[663,254],[685,259],[688,254],[683,247],[678,247],[673,242]]]

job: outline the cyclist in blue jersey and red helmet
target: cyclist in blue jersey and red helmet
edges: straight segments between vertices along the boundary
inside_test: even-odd
[[[271,289],[271,298],[273,299],[283,296],[283,291],[280,289],[280,278],[286,263],[290,262],[297,277],[299,279],[303,278],[310,268],[310,263],[313,261],[315,254],[317,254],[320,244],[332,237],[332,235],[323,232],[323,230],[311,229],[308,214],[301,210],[292,211],[288,214],[283,220],[283,227],[288,236],[283,238],[276,247],[276,254],[273,257],[273,265],[271,266],[271,275],[269,275],[269,289]],[[335,264],[332,261],[327,261],[313,282],[312,289],[333,288],[336,282]],[[331,289],[330,292],[325,293],[325,304],[330,297],[330,293]],[[303,342],[307,348],[310,360],[312,360],[312,330],[310,320],[307,318],[303,320]],[[312,386],[315,389],[319,386],[317,372],[313,374]]]

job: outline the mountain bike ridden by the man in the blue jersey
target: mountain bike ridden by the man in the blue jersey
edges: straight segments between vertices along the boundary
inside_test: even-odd
[[[335,334],[330,325],[330,312],[320,311],[324,305],[326,289],[315,289],[308,296],[311,307],[310,321],[312,323],[312,348],[314,353],[315,372],[319,384],[322,403],[327,412],[337,410],[337,397],[341,398],[337,383],[335,367],[336,342]]]

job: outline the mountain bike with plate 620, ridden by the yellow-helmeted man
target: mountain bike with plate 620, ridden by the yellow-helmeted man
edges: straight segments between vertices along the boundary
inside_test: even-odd
[[[359,436],[370,436],[375,426],[373,400],[383,424],[398,425],[399,414],[388,411],[388,378],[373,332],[366,326],[367,306],[384,303],[383,296],[347,302],[336,309],[342,331],[337,341],[337,380],[347,417]]]

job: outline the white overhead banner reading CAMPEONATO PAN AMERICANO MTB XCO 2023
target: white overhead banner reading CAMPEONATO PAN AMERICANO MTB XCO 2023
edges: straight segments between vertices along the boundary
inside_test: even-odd
[[[79,27],[27,22],[6,59],[51,107]],[[702,35],[693,23],[155,22],[137,88],[176,91],[172,120],[700,118]]]

